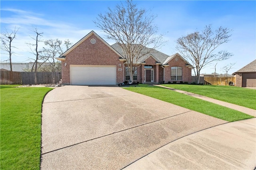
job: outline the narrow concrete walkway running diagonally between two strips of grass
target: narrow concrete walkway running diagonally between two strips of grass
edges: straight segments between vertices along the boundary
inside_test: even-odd
[[[194,94],[194,93],[191,93],[191,92],[186,92],[186,91],[183,91],[183,90],[178,90],[178,89],[174,89],[174,88],[170,88],[170,87],[166,87],[166,86],[162,86],[162,85],[154,85],[154,86],[174,90],[175,92],[179,92],[179,93],[186,94],[186,95],[189,95],[189,96],[192,96],[192,97],[195,97],[195,98],[206,100],[208,102],[212,102],[212,103],[215,103],[215,104],[218,104],[218,105],[221,105],[221,106],[225,106],[225,107],[228,107],[230,109],[238,110],[238,111],[241,111],[241,112],[246,113],[248,115],[252,115],[252,116],[256,117],[256,110],[254,110],[254,109],[250,109],[250,108],[243,107],[243,106],[238,106],[238,105],[231,104],[231,103],[228,103],[228,102],[222,102],[220,100],[216,100],[216,99],[213,99],[213,98],[208,98],[208,97],[202,96],[200,94]]]

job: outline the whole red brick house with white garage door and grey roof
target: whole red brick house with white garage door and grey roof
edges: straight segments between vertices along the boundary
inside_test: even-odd
[[[191,82],[192,66],[181,55],[150,51],[134,63],[134,82]],[[110,85],[128,81],[130,75],[123,55],[118,44],[110,46],[91,31],[56,58],[62,62],[62,84]]]

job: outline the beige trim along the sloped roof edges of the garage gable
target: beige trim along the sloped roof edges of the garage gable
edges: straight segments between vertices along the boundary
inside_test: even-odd
[[[75,43],[72,47],[70,47],[67,51],[65,51],[62,55],[60,55],[60,57],[56,57],[56,59],[58,60],[66,60],[66,55],[68,53],[70,53],[70,51],[72,51],[73,49],[75,49],[78,45],[80,45],[82,42],[84,42],[88,37],[90,37],[91,35],[95,35],[98,39],[100,39],[105,45],[107,45],[110,49],[112,49],[112,51],[114,51],[114,53],[116,53],[120,58],[124,58],[122,55],[120,55],[120,53],[118,53],[113,47],[111,47],[106,41],[104,41],[104,39],[102,39],[98,34],[96,34],[94,31],[91,31],[90,33],[88,33],[86,36],[84,36],[82,39],[80,39],[77,43]]]

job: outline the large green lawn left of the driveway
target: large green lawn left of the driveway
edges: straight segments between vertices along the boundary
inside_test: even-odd
[[[0,168],[40,169],[42,100],[51,88],[0,86]]]

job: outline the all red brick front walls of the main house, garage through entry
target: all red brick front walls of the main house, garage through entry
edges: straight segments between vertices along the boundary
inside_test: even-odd
[[[92,38],[96,39],[96,43],[90,42]],[[134,82],[154,84],[173,82],[171,81],[171,67],[182,67],[181,81],[191,82],[191,66],[189,65],[190,68],[186,66],[187,63],[179,56],[170,57],[170,61],[165,63],[164,68],[162,68],[162,63],[159,63],[156,58],[149,56],[142,64],[136,65],[137,80],[134,80]],[[78,41],[58,59],[62,61],[63,84],[70,84],[71,65],[115,66],[116,84],[124,82],[126,66],[124,65],[124,59],[93,31]]]

